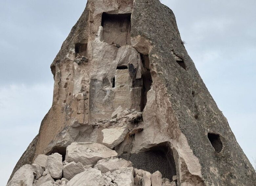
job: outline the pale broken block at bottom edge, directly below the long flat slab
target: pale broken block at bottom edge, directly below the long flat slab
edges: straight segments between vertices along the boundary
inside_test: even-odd
[[[133,167],[116,170],[112,175],[115,176],[113,182],[118,186],[134,186]]]

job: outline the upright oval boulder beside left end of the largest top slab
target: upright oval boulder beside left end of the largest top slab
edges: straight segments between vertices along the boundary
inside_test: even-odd
[[[46,161],[46,169],[49,170],[50,175],[55,179],[60,179],[62,177],[62,156],[58,153],[49,155]]]

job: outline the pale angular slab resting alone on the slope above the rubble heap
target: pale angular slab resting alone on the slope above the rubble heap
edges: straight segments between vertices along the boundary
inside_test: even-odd
[[[125,139],[127,133],[128,128],[126,126],[103,129],[101,131],[101,134],[103,136],[102,143],[110,149],[113,149]]]

